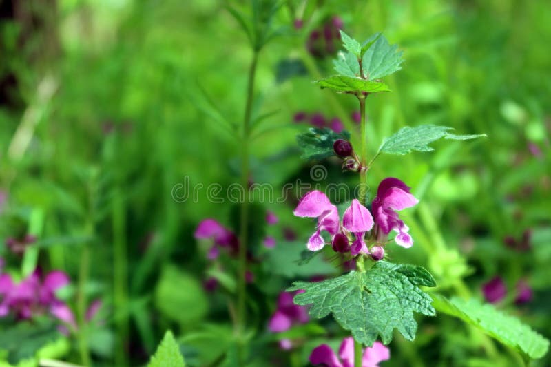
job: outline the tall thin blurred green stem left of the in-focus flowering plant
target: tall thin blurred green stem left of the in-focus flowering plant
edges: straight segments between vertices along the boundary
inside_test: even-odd
[[[256,65],[258,63],[258,50],[254,50],[251,66],[249,67],[249,78],[247,81],[247,102],[245,104],[245,117],[243,119],[242,135],[242,160],[241,160],[241,185],[244,192],[243,202],[241,203],[240,213],[240,235],[239,235],[239,269],[238,269],[238,300],[237,300],[237,322],[236,335],[238,336],[238,359],[242,365],[245,359],[245,325],[247,323],[245,304],[246,304],[246,280],[247,272],[247,241],[248,241],[248,223],[249,223],[249,135],[251,134],[251,113],[254,98],[254,79],[256,76]]]

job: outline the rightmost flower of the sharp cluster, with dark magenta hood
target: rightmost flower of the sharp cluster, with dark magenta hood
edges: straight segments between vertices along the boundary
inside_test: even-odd
[[[400,220],[398,213],[402,209],[413,207],[419,200],[410,193],[410,188],[397,178],[385,178],[379,184],[377,197],[373,199],[372,211],[375,217],[377,240],[384,242],[388,233],[396,231],[395,242],[402,247],[412,247],[413,238],[409,228]]]

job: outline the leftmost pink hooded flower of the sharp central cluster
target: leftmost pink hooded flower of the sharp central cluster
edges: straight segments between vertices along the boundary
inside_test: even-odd
[[[327,231],[331,236],[339,231],[339,211],[322,191],[306,193],[293,213],[298,217],[318,218],[318,229],[308,240],[307,246],[311,251],[318,251],[324,247],[325,240],[321,231]]]

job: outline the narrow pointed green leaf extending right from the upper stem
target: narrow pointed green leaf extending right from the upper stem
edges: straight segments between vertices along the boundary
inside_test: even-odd
[[[410,151],[433,151],[434,148],[429,147],[428,144],[439,138],[446,138],[452,140],[469,140],[474,138],[480,138],[486,136],[486,134],[479,135],[455,135],[450,134],[449,131],[453,130],[452,127],[437,126],[437,125],[421,125],[417,127],[402,127],[399,131],[384,140],[379,148],[379,153],[388,154],[406,154]]]

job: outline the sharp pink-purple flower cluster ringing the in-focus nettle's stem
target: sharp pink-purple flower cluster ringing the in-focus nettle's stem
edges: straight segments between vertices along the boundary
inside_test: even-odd
[[[397,178],[385,178],[380,183],[377,197],[372,203],[373,216],[359,200],[354,199],[344,211],[341,224],[337,207],[318,190],[306,193],[293,213],[298,217],[318,218],[316,231],[307,243],[309,250],[318,251],[325,246],[326,241],[322,232],[326,231],[331,235],[330,243],[334,251],[350,251],[354,256],[364,253],[371,255],[374,260],[381,260],[384,258],[382,246],[388,240],[391,231],[398,233],[395,242],[400,246],[413,245],[413,239],[408,233],[409,228],[400,220],[396,211],[413,207],[417,202],[404,182]],[[369,235],[366,237],[366,234]],[[373,244],[371,251],[366,240]]]

